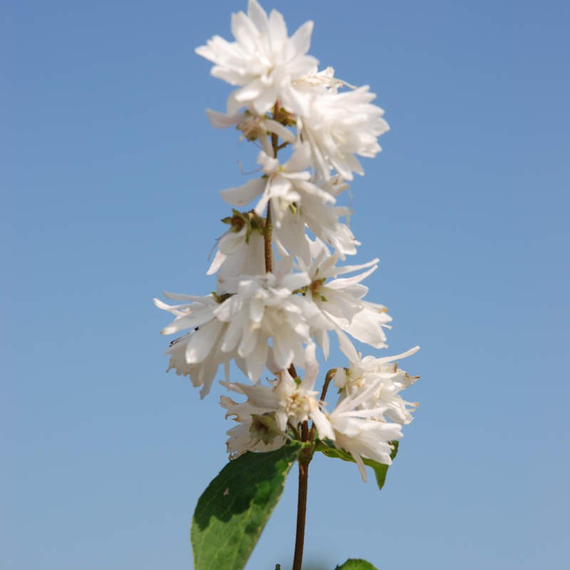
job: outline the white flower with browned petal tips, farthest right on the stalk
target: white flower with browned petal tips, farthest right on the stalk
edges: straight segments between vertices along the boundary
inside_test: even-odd
[[[360,408],[377,410],[375,419],[408,424],[413,420],[409,408],[413,411],[418,403],[403,400],[400,391],[415,383],[419,376],[408,375],[406,371],[398,368],[398,363],[395,361],[412,356],[419,350],[420,347],[415,346],[397,356],[358,357],[349,368],[338,368],[334,375],[334,383],[344,394],[355,396],[375,385],[375,389],[369,393],[366,400],[363,400]]]

